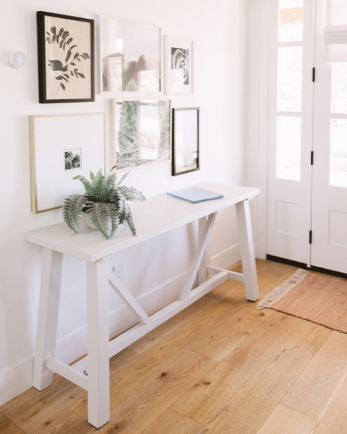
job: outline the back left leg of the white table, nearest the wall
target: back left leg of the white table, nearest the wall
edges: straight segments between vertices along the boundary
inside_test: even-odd
[[[37,390],[52,384],[53,372],[46,368],[46,359],[56,355],[61,275],[62,253],[44,247],[33,371],[33,387]]]

